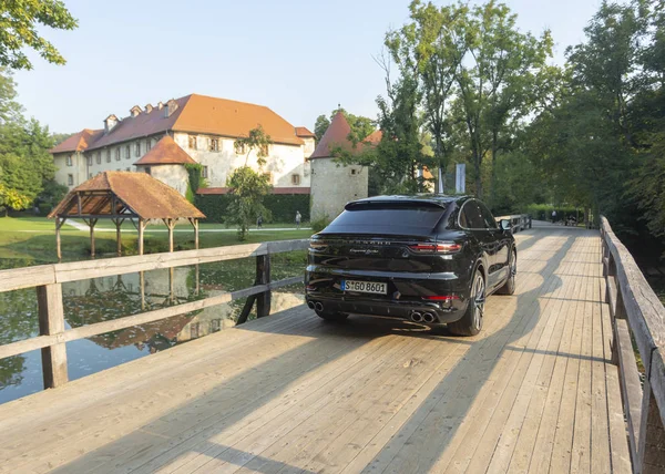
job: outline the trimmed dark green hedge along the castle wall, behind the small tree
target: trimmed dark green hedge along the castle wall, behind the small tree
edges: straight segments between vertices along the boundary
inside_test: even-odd
[[[207,216],[207,223],[224,223],[224,214],[231,202],[225,194],[196,195],[196,207]],[[309,220],[308,194],[270,194],[265,197],[264,206],[273,214],[273,223],[294,223],[296,210],[303,215],[303,220]]]

